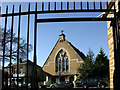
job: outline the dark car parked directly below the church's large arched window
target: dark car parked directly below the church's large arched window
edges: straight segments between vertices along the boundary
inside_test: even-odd
[[[50,88],[72,88],[73,84],[70,82],[58,82],[50,85]]]

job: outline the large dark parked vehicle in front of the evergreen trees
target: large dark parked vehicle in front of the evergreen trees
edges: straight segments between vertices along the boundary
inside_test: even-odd
[[[108,82],[103,81],[100,78],[83,78],[80,81],[76,82],[77,86],[82,86],[83,88],[88,87],[99,87],[105,88],[108,86]]]

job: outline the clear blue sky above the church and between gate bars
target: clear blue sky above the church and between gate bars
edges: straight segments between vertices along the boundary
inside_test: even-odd
[[[12,5],[15,5],[15,12],[19,11],[19,5],[22,6],[22,11],[28,10],[28,2],[5,2],[2,3],[2,13],[5,13],[5,7],[8,5],[9,12],[12,12]],[[31,2],[31,11],[35,9],[35,3]],[[47,10],[47,4],[45,3],[45,10]],[[86,3],[83,3],[84,9]],[[54,3],[51,3],[51,10],[54,8]],[[90,3],[92,7],[93,3]],[[60,9],[60,3],[57,3],[57,9]],[[70,9],[73,3],[70,3]],[[76,9],[80,7],[79,3],[76,3]],[[96,3],[96,7],[99,8],[99,4]],[[105,7],[105,3],[103,3]],[[66,3],[63,3],[63,9],[66,9]],[[38,11],[41,10],[41,2],[38,3]],[[97,17],[101,13],[58,13],[58,14],[42,14],[38,15],[40,18],[74,18],[74,17]],[[7,29],[11,28],[11,18],[8,18]],[[20,36],[25,40],[27,35],[27,15],[21,17],[21,33]],[[2,27],[4,27],[4,19],[2,19]],[[107,36],[107,22],[54,22],[54,23],[38,23],[37,24],[37,63],[43,66],[54,45],[59,39],[61,30],[64,30],[66,40],[71,42],[76,48],[82,51],[85,55],[88,53],[89,48],[94,52],[95,56],[99,53],[100,48],[104,49],[106,55],[109,55],[108,51],[108,36]],[[18,32],[18,16],[14,19],[14,33]],[[17,35],[17,34],[16,34]],[[30,44],[34,45],[34,15],[30,16]],[[34,51],[34,48],[33,48]],[[33,51],[29,54],[29,59],[33,61]]]

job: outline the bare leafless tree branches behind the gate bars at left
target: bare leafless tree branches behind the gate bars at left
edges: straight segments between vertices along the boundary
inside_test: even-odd
[[[6,31],[6,39],[4,43],[4,29],[1,29],[1,42],[0,42],[0,60],[3,60],[3,46],[5,44],[5,61],[9,62],[10,60],[10,42],[11,42],[11,30]],[[16,33],[13,33],[13,40],[12,40],[12,60],[16,61],[17,59],[17,43],[18,37]],[[29,52],[32,50],[32,45],[29,44]],[[26,59],[27,57],[27,43],[23,38],[20,38],[19,43],[19,58]]]

